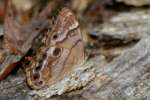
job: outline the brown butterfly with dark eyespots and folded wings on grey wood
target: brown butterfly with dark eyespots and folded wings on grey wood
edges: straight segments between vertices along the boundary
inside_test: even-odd
[[[27,82],[33,89],[51,85],[68,75],[75,65],[85,60],[84,42],[79,22],[63,8],[51,32],[43,33],[40,47],[32,47],[30,63],[25,68]]]

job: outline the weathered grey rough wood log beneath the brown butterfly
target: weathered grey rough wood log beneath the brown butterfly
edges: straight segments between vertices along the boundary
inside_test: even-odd
[[[120,13],[90,30],[101,42],[105,37],[122,42],[123,46],[109,48],[110,55],[114,55],[111,60],[107,61],[108,52],[100,49],[99,55],[88,60],[92,65],[85,64],[61,82],[40,91],[31,91],[19,70],[0,82],[0,99],[35,100],[34,94],[39,94],[44,96],[42,99],[55,95],[50,100],[149,100],[149,26],[150,10]]]

